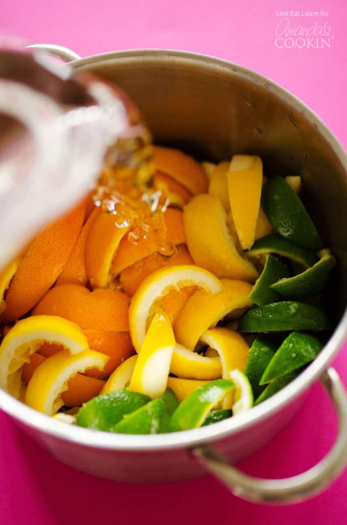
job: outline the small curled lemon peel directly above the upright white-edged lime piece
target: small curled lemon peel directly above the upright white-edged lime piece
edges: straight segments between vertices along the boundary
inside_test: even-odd
[[[223,379],[230,379],[230,371],[235,368],[241,372],[245,370],[250,349],[240,333],[227,328],[216,327],[204,332],[200,341],[218,352]]]

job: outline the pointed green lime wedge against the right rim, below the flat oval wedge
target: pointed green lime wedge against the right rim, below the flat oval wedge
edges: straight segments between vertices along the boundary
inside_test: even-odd
[[[259,381],[265,385],[270,381],[301,368],[316,359],[322,343],[308,333],[291,332],[280,345]]]

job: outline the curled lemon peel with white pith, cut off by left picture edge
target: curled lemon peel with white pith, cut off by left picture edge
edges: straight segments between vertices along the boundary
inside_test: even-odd
[[[71,354],[89,347],[78,325],[62,317],[33,316],[18,321],[0,345],[1,388],[18,398],[20,368],[44,342],[61,344]]]

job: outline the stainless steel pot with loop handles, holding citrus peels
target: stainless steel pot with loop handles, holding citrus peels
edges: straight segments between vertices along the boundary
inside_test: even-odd
[[[318,358],[284,390],[246,414],[167,435],[92,432],[33,411],[0,391],[0,407],[53,456],[75,468],[118,481],[162,482],[210,472],[245,499],[288,502],[321,491],[347,461],[347,395],[328,368],[347,332],[347,156],[309,108],[274,82],[230,62],[166,50],[133,50],[80,59],[56,46],[34,46],[124,88],[143,111],[155,141],[200,158],[253,153],[266,173],[300,173],[305,198],[326,245],[339,259],[331,301],[337,328]],[[67,66],[64,66],[67,67]],[[253,453],[296,413],[320,379],[339,418],[329,454],[304,474],[264,480],[230,464]]]

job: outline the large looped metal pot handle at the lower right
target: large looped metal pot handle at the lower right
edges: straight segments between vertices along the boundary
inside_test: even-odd
[[[347,394],[339,374],[332,368],[320,378],[337,411],[339,434],[332,449],[317,465],[286,479],[261,479],[248,476],[208,446],[192,450],[194,459],[216,476],[235,496],[263,503],[302,501],[326,488],[343,470],[347,461]]]

